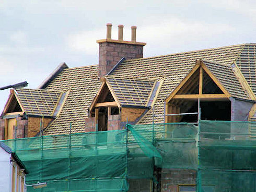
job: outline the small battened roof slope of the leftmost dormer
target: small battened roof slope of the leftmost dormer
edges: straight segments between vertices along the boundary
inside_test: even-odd
[[[28,115],[50,116],[62,92],[43,89],[16,89],[17,96]]]

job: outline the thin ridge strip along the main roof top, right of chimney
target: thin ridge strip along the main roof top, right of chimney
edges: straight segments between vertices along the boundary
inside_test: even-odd
[[[139,60],[143,60],[143,59],[151,59],[151,58],[158,58],[158,57],[160,58],[160,57],[164,57],[164,56],[180,55],[180,54],[185,54],[185,53],[194,53],[194,52],[201,52],[201,51],[208,51],[208,50],[224,49],[224,48],[228,48],[228,47],[236,47],[236,46],[242,46],[242,45],[246,45],[246,43],[237,44],[237,45],[228,45],[228,46],[213,47],[213,48],[202,49],[202,50],[194,50],[194,51],[187,51],[187,52],[171,53],[171,54],[167,54],[167,55],[158,55],[158,56],[152,56],[152,57],[143,57],[143,58],[127,59],[127,60],[125,60],[123,63],[128,62],[128,61],[129,61],[129,62],[130,62],[130,61],[139,61]]]

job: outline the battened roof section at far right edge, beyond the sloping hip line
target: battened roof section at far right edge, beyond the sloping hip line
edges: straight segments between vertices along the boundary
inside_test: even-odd
[[[240,68],[243,76],[256,94],[256,44],[245,44],[240,56],[236,60],[236,64]]]

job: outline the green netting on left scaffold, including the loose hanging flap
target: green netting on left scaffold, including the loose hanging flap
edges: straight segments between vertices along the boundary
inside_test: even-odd
[[[3,142],[25,164],[27,184],[47,182],[40,191],[127,191],[129,179],[152,179],[154,158],[161,159],[152,142],[128,127],[129,132],[98,131]],[[38,190],[28,187],[28,191]]]

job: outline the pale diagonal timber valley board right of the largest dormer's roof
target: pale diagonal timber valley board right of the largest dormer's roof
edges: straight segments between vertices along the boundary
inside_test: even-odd
[[[233,63],[231,65],[232,70],[234,71],[235,75],[237,76],[239,82],[241,83],[241,86],[247,91],[249,97],[251,100],[256,100],[255,94],[253,93],[251,87],[249,86],[245,76],[243,76],[241,70],[237,66],[236,63]]]

